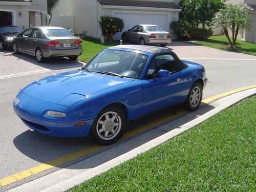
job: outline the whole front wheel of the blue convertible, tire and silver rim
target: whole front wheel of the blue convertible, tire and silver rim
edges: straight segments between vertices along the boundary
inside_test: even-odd
[[[116,106],[109,106],[103,109],[94,120],[91,135],[99,144],[109,145],[122,136],[125,124],[126,115],[123,110]]]

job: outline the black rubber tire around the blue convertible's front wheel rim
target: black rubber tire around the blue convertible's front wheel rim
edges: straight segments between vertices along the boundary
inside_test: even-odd
[[[121,118],[121,121],[122,121],[122,126],[121,126],[121,130],[120,132],[118,133],[118,135],[111,139],[111,140],[103,140],[101,139],[98,134],[97,134],[97,130],[96,130],[96,126],[97,126],[97,122],[99,120],[99,118],[101,117],[101,115],[103,115],[104,113],[108,112],[108,111],[113,111],[113,112],[116,112],[120,118]],[[93,125],[92,125],[92,128],[91,128],[91,131],[90,131],[90,134],[92,135],[93,139],[99,143],[99,144],[102,144],[102,145],[109,145],[109,144],[112,144],[114,142],[116,142],[123,134],[124,132],[124,129],[125,129],[125,126],[126,126],[126,115],[125,113],[123,112],[123,110],[121,110],[120,108],[118,108],[117,106],[109,106],[109,107],[106,107],[105,109],[103,109],[98,115],[97,117],[95,118],[94,122],[93,122]]]

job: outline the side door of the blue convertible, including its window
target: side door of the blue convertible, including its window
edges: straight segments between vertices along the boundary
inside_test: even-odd
[[[159,70],[169,71],[169,76],[158,77]],[[142,80],[142,115],[184,100],[183,73],[178,71],[177,59],[172,54],[155,56]]]

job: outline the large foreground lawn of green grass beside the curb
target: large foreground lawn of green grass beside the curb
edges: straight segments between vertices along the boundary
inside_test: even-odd
[[[256,96],[71,191],[254,191],[255,119]]]

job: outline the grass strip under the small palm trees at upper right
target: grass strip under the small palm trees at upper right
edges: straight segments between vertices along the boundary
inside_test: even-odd
[[[230,40],[232,40],[232,37]],[[206,47],[223,49],[227,51],[245,53],[249,55],[256,55],[256,44],[252,44],[250,42],[243,42],[241,40],[237,40],[236,42],[237,42],[237,46],[240,46],[241,49],[237,49],[237,48],[231,49],[230,44],[225,35],[211,36],[206,41],[193,41],[191,43],[196,45],[206,46]]]

